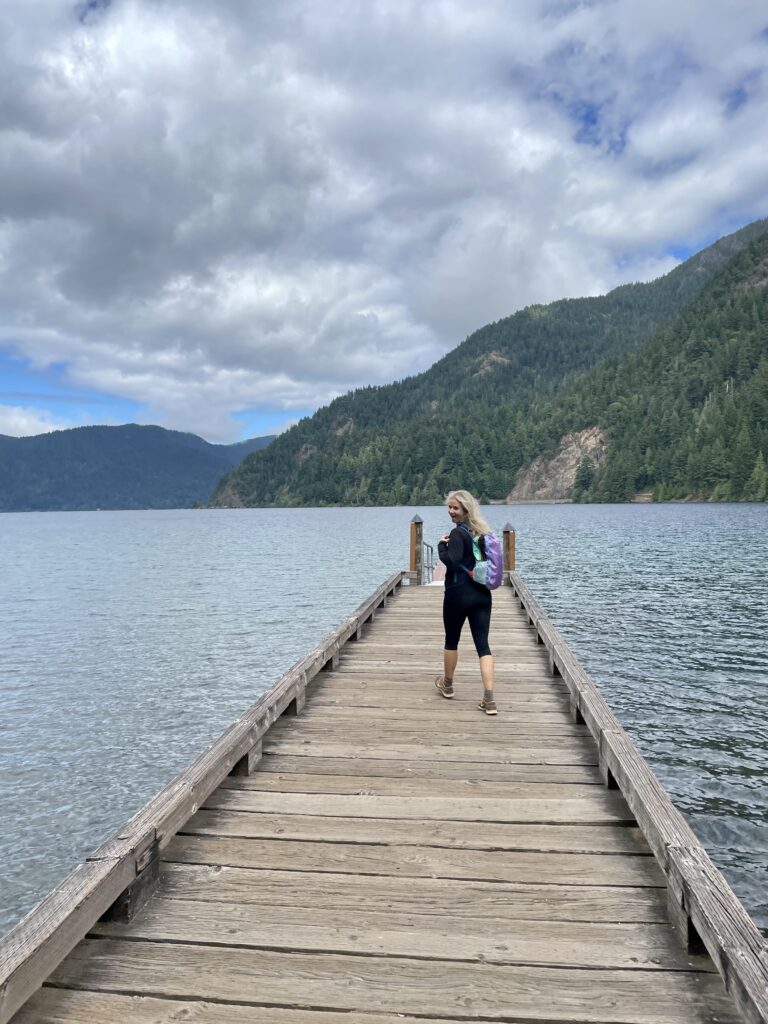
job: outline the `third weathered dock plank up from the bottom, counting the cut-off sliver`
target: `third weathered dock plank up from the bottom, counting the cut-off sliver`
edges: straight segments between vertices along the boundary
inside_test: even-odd
[[[238,906],[193,903],[156,896],[130,925],[100,922],[94,935],[154,942],[194,942],[297,952],[483,961],[542,967],[706,971],[707,956],[683,951],[659,925],[593,925],[584,922],[472,921],[445,914],[381,913],[360,907]]]

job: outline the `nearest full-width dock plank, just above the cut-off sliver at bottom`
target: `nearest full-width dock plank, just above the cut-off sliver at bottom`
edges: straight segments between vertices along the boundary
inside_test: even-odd
[[[449,973],[440,961],[89,939],[58,968],[53,982],[173,998],[361,1013],[461,1014],[468,1020],[508,1020],[517,1014],[530,1021],[569,1024],[734,1021],[718,978],[682,971],[452,964]]]

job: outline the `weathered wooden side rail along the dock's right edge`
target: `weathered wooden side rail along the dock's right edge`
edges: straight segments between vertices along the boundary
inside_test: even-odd
[[[573,721],[597,744],[600,774],[618,788],[667,877],[670,916],[689,952],[705,949],[749,1024],[768,1024],[768,945],[623,729],[597,686],[516,571],[515,597],[561,676]]]

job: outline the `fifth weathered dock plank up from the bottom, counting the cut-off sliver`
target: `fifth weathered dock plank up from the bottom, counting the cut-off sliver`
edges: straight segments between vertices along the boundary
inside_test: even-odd
[[[650,857],[457,850],[433,846],[312,843],[219,836],[177,836],[166,851],[175,863],[397,878],[467,879],[540,885],[664,887]]]

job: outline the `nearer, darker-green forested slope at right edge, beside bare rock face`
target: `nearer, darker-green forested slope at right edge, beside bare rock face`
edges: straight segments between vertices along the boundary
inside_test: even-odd
[[[574,499],[765,501],[768,455],[768,233],[750,245],[667,329],[539,411],[548,437],[599,424],[597,473]]]

